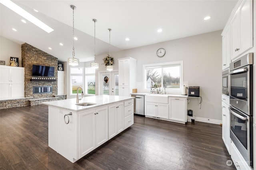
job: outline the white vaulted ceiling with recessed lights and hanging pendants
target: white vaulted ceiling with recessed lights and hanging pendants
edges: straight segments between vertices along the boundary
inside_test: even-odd
[[[24,10],[52,27],[46,33],[6,6],[0,5],[0,33],[16,43],[28,43],[67,61],[72,57],[72,9],[76,58],[94,60],[94,22],[96,55],[141,47],[224,28],[237,0],[12,0]],[[33,9],[38,10],[35,12]],[[210,20],[203,20],[212,16]],[[16,28],[17,31],[13,31]],[[157,29],[163,31],[158,33]],[[125,41],[129,37],[130,41]],[[59,43],[63,43],[60,46]],[[48,49],[51,47],[52,50]]]

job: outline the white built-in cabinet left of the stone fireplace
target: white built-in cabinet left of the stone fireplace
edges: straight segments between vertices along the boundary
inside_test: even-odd
[[[0,98],[24,97],[24,67],[0,66]]]

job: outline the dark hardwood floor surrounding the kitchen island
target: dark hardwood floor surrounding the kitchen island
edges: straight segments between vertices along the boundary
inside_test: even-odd
[[[235,170],[220,125],[134,116],[134,125],[74,164],[48,147],[48,106],[0,110],[2,170]]]

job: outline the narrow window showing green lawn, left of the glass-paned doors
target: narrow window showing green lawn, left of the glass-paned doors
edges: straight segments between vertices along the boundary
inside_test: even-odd
[[[85,68],[85,94],[95,94],[95,68]]]

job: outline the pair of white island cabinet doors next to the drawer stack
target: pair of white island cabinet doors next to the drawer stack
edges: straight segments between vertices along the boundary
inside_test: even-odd
[[[108,106],[108,139],[124,130],[124,103]]]

